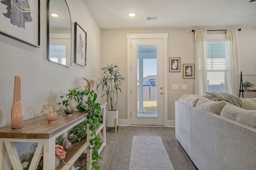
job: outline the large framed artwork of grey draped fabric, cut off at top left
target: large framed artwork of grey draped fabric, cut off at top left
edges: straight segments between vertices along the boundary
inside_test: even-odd
[[[0,33],[40,47],[40,0],[1,0]]]

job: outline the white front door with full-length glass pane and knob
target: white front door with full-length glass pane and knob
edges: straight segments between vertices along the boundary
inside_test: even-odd
[[[164,125],[164,39],[131,39],[131,125]]]

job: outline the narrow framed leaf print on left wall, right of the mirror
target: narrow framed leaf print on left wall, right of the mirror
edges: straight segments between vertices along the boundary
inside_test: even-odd
[[[86,32],[75,22],[74,63],[86,66]]]

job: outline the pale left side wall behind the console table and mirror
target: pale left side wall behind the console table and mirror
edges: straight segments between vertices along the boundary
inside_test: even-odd
[[[36,48],[0,34],[0,127],[10,125],[10,111],[13,100],[14,76],[22,77],[22,105],[24,120],[41,116],[44,105],[58,105],[68,89],[78,87],[78,78],[99,77],[101,30],[84,0],[66,0],[72,21],[87,33],[87,66],[74,64],[74,43],[72,44],[71,67],[50,63],[46,57],[46,3],[41,0],[41,47]],[[100,99],[99,99],[100,100]]]

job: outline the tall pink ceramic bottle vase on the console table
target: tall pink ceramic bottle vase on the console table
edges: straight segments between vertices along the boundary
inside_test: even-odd
[[[23,125],[23,108],[21,103],[21,77],[14,76],[14,91],[11,110],[12,129],[19,129]]]

